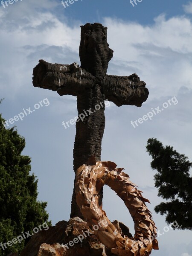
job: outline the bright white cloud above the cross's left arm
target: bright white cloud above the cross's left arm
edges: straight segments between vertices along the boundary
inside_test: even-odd
[[[58,62],[59,59],[68,61],[68,55],[70,58],[75,55],[76,61],[79,57],[80,24],[71,28],[48,11],[28,13],[30,5],[25,7],[18,9],[22,18],[13,15],[9,19],[11,9],[3,15],[0,12],[0,69],[3,81],[0,90],[5,95],[12,89],[12,97],[21,89],[26,89],[26,84],[32,84],[32,70],[38,59]]]

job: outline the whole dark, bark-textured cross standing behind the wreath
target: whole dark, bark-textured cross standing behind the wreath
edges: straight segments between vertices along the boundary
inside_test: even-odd
[[[121,47],[119,45],[119,47]],[[106,75],[113,50],[107,42],[107,27],[100,23],[81,26],[79,47],[81,67],[77,63],[51,64],[40,60],[33,70],[33,85],[56,91],[60,96],[77,97],[78,114],[88,111],[84,119],[76,120],[76,138],[73,150],[74,171],[87,163],[91,156],[101,160],[102,137],[105,128],[105,104],[108,100],[116,106],[135,105],[141,107],[148,98],[145,82],[136,74],[131,76]],[[96,105],[101,106],[96,110]],[[102,192],[100,195],[102,204]],[[75,190],[71,204],[71,215],[81,217],[76,204]]]

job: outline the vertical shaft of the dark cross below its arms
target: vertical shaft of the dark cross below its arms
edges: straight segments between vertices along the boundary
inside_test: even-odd
[[[101,159],[101,145],[102,137],[105,129],[105,103],[104,95],[101,93],[101,87],[96,84],[90,90],[85,91],[83,94],[77,96],[77,109],[78,114],[84,113],[89,110],[91,114],[76,123],[76,138],[73,150],[73,166],[76,170],[79,166],[86,163],[91,156],[95,156],[97,160]],[[96,110],[95,106],[100,106]],[[75,181],[74,181],[75,182]],[[102,203],[102,192],[100,193],[100,204]],[[75,186],[73,190],[71,215],[81,216],[79,207],[76,204]]]

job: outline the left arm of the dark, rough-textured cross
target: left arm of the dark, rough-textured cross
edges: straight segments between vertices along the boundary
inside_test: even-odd
[[[61,96],[77,96],[85,88],[93,87],[95,82],[96,78],[76,62],[63,65],[39,60],[39,64],[33,69],[34,87],[57,91]]]

